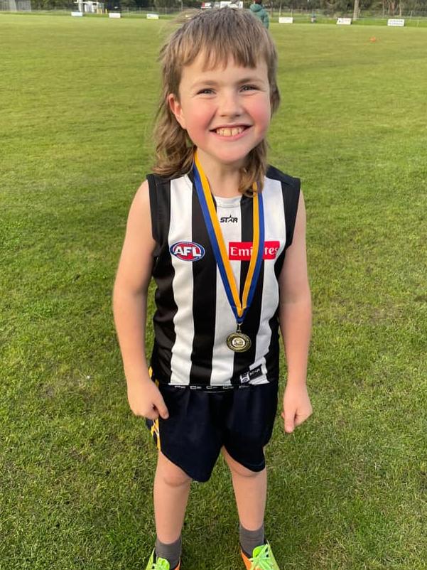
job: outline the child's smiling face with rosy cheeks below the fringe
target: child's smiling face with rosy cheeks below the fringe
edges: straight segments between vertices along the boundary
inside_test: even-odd
[[[204,70],[204,54],[183,68],[179,99],[169,95],[177,121],[198,147],[204,166],[244,166],[249,151],[266,136],[271,107],[267,65]]]

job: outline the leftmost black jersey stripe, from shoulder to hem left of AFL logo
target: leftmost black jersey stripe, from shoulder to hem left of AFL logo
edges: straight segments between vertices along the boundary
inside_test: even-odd
[[[160,176],[150,176],[148,184],[153,237],[157,242],[152,271],[157,285],[155,294],[157,310],[153,316],[155,340],[151,367],[156,380],[170,382],[172,348],[176,340],[173,318],[178,311],[172,286],[175,270],[168,244],[169,226],[171,225],[171,181]]]

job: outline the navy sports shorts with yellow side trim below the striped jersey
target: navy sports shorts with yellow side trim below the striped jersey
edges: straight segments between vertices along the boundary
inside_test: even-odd
[[[222,392],[159,385],[168,419],[147,420],[158,449],[192,479],[210,478],[222,446],[252,471],[265,467],[279,382]]]

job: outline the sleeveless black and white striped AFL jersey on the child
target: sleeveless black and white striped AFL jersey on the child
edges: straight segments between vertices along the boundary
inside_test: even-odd
[[[262,190],[263,261],[252,306],[242,324],[252,346],[245,353],[234,353],[226,340],[235,332],[236,321],[191,175],[169,180],[151,174],[147,179],[156,240],[153,376],[171,385],[207,389],[277,380],[278,278],[292,242],[300,181],[271,166],[267,171]],[[215,207],[242,298],[252,249],[253,200],[215,197]]]

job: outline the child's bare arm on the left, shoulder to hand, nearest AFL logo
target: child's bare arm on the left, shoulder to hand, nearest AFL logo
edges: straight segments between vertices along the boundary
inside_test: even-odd
[[[123,249],[114,284],[113,311],[123,357],[129,405],[136,416],[166,419],[168,410],[148,376],[145,355],[147,290],[153,251],[148,183],[144,182],[129,210]]]

